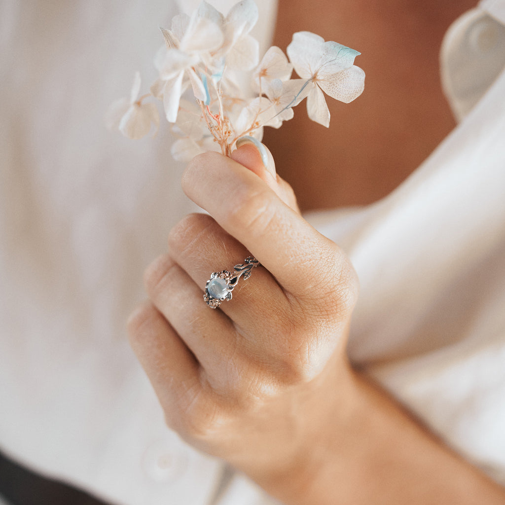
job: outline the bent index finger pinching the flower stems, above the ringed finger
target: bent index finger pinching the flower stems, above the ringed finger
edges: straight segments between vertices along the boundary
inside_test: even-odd
[[[182,187],[288,292],[298,296],[310,295],[313,289],[334,290],[352,270],[332,241],[230,158],[218,153],[195,157],[184,172]]]

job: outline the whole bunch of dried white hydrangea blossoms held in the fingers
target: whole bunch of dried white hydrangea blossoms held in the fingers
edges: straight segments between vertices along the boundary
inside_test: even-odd
[[[253,0],[241,0],[225,17],[207,2],[187,16],[162,28],[165,41],[155,57],[158,79],[150,95],[163,100],[165,116],[177,140],[172,155],[188,160],[208,150],[231,155],[237,138],[261,140],[263,127],[279,128],[293,117],[293,107],[307,98],[309,117],[324,126],[330,113],[323,91],[350,102],[363,91],[364,72],[354,65],[358,53],[336,42],[325,42],[310,32],[293,36],[287,59],[271,47],[261,63],[258,41],[250,35],[258,20]],[[291,79],[296,70],[300,79]],[[153,104],[138,98],[140,76],[135,75],[130,99],[115,102],[109,126],[140,138],[159,125]],[[192,98],[182,95],[192,91]]]

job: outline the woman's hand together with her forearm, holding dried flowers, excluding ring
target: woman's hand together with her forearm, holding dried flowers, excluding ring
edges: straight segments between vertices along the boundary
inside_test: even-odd
[[[290,505],[504,503],[502,487],[349,367],[354,270],[253,146],[233,158],[186,169],[184,190],[212,217],[172,230],[129,321],[167,423]],[[250,254],[263,266],[207,307],[211,273]]]

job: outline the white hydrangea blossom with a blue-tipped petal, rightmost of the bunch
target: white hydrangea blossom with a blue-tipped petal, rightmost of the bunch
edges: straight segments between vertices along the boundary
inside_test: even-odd
[[[287,54],[296,73],[308,80],[307,112],[316,123],[326,127],[330,124],[323,91],[345,103],[363,92],[365,72],[353,65],[360,54],[358,51],[337,42],[325,42],[315,33],[297,32],[287,47]]]

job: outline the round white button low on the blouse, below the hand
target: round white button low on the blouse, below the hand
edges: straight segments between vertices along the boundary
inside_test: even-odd
[[[173,440],[157,440],[144,452],[142,468],[155,482],[173,482],[187,469],[187,456]]]

